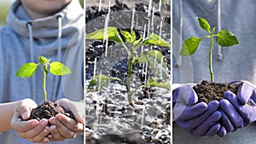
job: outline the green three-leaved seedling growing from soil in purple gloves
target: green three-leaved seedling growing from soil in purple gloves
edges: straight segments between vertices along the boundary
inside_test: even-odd
[[[215,27],[212,28],[209,25],[208,21],[197,17],[198,23],[201,26],[202,29],[206,30],[208,32],[208,36],[204,37],[189,37],[188,39],[185,40],[183,47],[181,49],[180,55],[183,56],[189,56],[193,55],[198,48],[199,43],[201,40],[205,38],[210,38],[211,43],[210,43],[210,50],[209,50],[209,70],[210,70],[210,76],[211,76],[211,82],[213,82],[213,71],[212,71],[212,47],[214,43],[214,37],[216,37],[216,42],[218,45],[222,47],[230,47],[235,44],[239,44],[236,36],[227,30],[222,30],[218,33],[215,32]]]

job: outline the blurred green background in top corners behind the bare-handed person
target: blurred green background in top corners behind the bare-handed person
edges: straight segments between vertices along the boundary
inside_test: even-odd
[[[6,25],[6,15],[9,11],[9,6],[11,3],[13,3],[15,0],[0,0],[0,26]],[[79,0],[82,7],[84,7],[84,0]]]

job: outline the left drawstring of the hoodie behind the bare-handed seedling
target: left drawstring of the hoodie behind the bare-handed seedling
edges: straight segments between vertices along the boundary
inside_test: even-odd
[[[29,50],[30,50],[30,60],[35,62],[34,60],[34,49],[33,49],[33,32],[32,32],[32,23],[27,22],[26,26],[28,28],[29,34]],[[35,100],[36,98],[36,79],[32,77],[32,99]]]

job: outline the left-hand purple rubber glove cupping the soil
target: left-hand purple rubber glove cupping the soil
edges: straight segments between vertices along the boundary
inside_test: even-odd
[[[185,84],[173,92],[173,118],[175,122],[191,135],[195,136],[224,136],[226,130],[218,121],[222,117],[218,112],[218,101],[196,103],[198,97],[193,85]]]

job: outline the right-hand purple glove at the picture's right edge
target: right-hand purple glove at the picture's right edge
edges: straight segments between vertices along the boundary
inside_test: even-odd
[[[227,91],[224,93],[226,100],[219,102],[223,114],[222,122],[228,132],[245,127],[256,120],[255,86],[247,81],[233,84],[239,84],[237,95]]]

